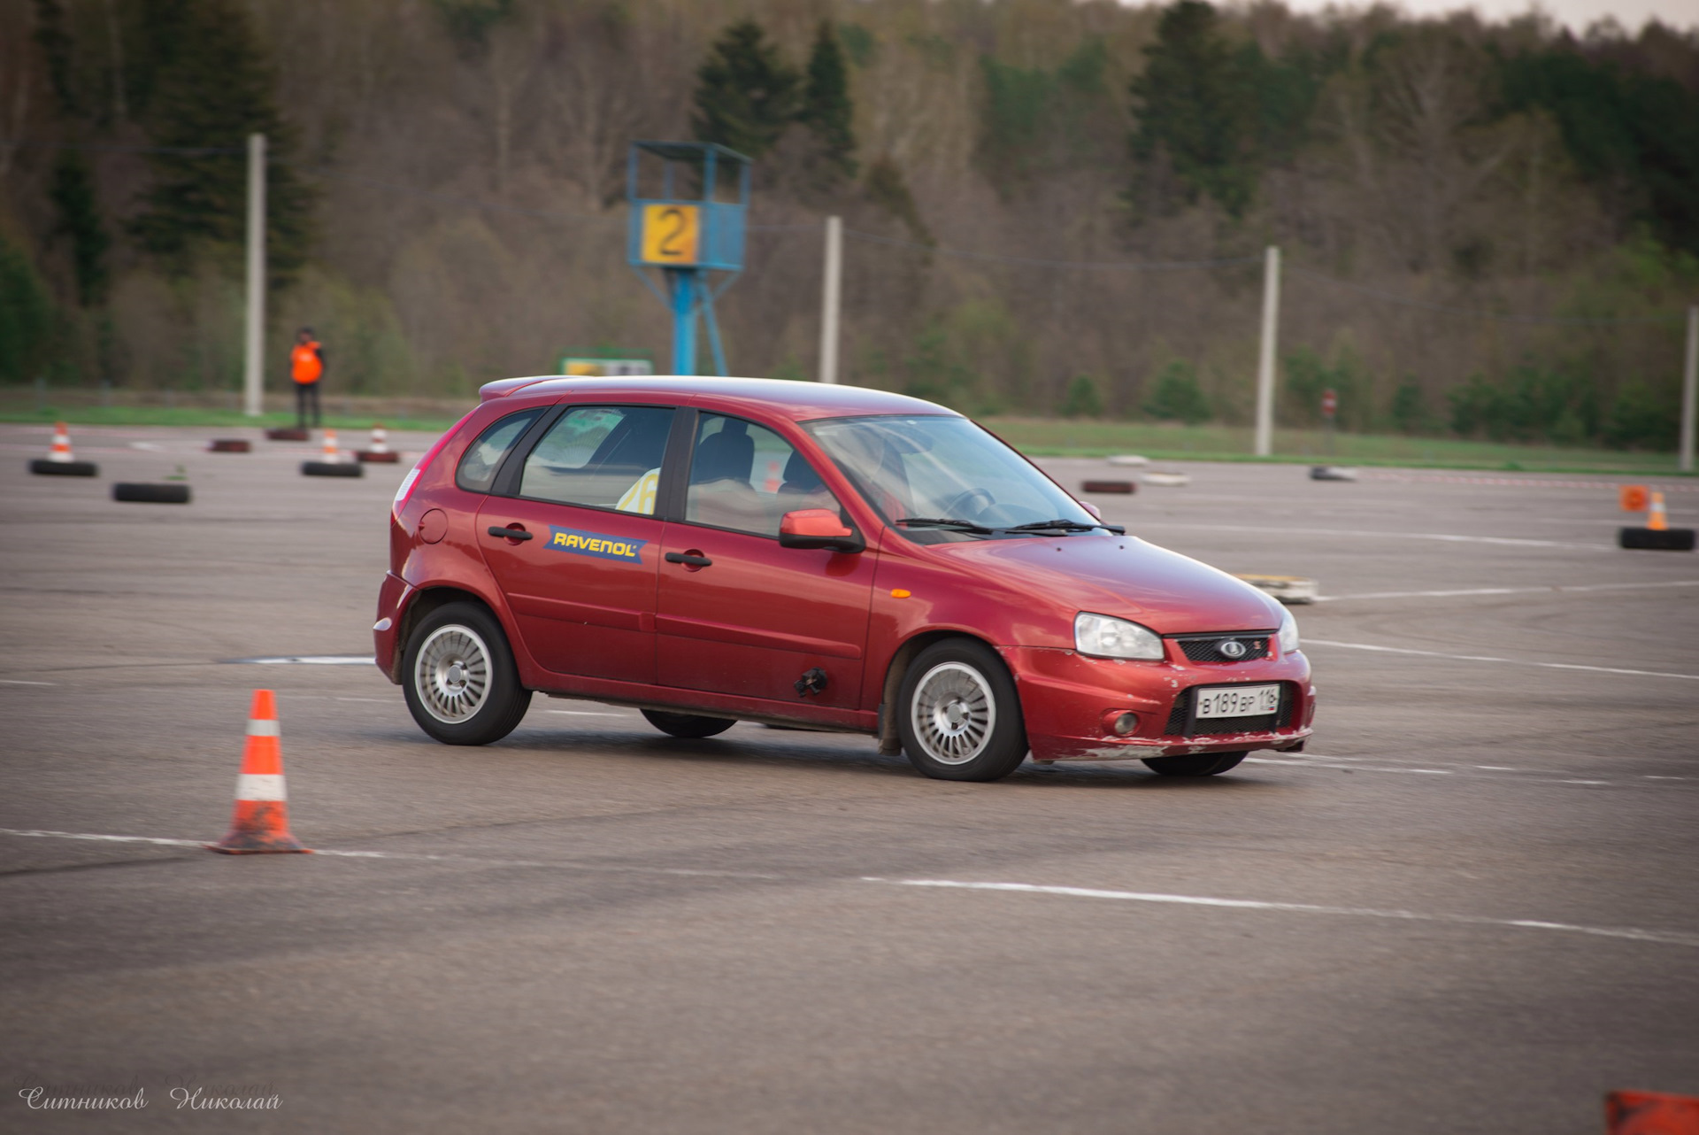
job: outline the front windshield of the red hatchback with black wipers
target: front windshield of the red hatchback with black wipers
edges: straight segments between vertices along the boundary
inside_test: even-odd
[[[911,539],[938,542],[1098,528],[1079,501],[967,418],[822,418],[804,428],[861,498]],[[1011,532],[1023,525],[1026,532]]]

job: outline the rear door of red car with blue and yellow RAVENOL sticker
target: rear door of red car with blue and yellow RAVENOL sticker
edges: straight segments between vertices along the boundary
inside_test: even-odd
[[[673,413],[569,406],[479,510],[484,562],[545,669],[654,681],[656,488]]]

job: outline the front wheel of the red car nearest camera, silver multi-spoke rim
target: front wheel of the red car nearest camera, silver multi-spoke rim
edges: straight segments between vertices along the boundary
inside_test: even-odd
[[[1002,780],[1026,759],[1021,698],[984,642],[945,639],[914,656],[897,695],[897,736],[934,780]]]

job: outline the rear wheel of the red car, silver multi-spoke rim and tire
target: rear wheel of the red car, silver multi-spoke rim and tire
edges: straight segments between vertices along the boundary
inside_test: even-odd
[[[501,624],[477,603],[445,603],[425,615],[401,656],[408,710],[443,744],[489,744],[530,709]]]

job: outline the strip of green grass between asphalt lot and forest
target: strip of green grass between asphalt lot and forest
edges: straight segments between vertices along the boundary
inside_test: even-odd
[[[0,403],[0,421],[110,426],[292,426],[294,413],[267,413],[248,418],[231,409],[190,406],[97,406],[48,404],[36,409],[22,398]],[[375,401],[375,399],[374,399]],[[326,399],[331,403],[331,399]],[[440,433],[455,423],[464,403],[420,399],[411,413],[377,404],[350,413],[328,413],[325,425],[335,430],[369,430],[382,421],[389,430]],[[433,413],[435,411],[435,413]],[[1352,464],[1400,466],[1415,469],[1493,469],[1522,472],[1611,472],[1628,476],[1684,476],[1675,471],[1675,454],[1645,454],[1611,449],[1570,449],[1558,445],[1519,445],[1512,442],[1466,442],[1444,437],[1405,437],[1393,433],[1339,433],[1329,450],[1322,430],[1276,430],[1274,455],[1250,455],[1250,428],[1225,425],[1176,425],[1154,421],[1104,421],[1070,418],[985,418],[984,423],[1023,452],[1043,457],[1108,457],[1143,454],[1155,460],[1262,460],[1283,464]]]

